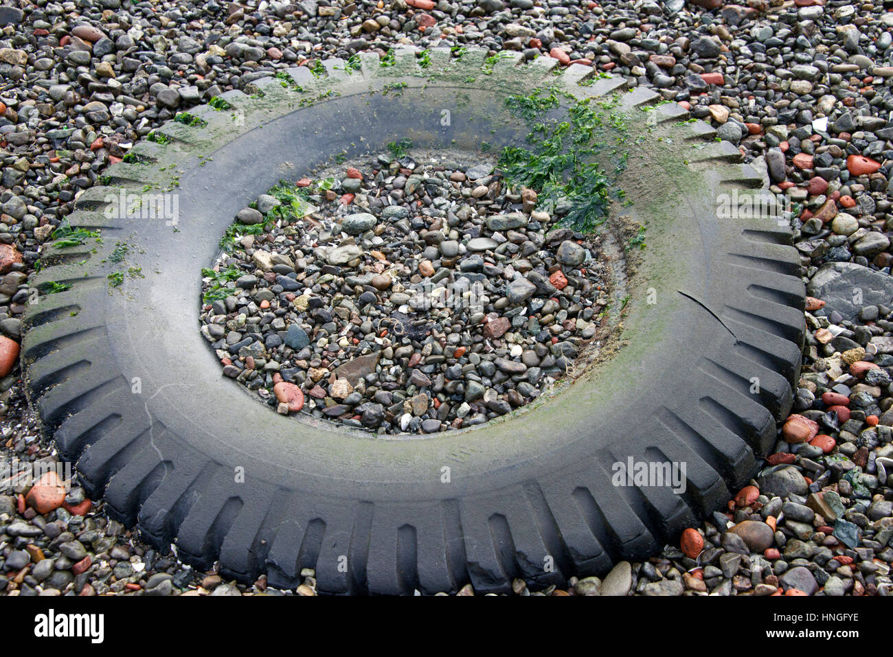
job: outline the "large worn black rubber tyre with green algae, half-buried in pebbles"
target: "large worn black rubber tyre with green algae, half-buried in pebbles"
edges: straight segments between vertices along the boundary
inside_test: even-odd
[[[169,143],[136,146],[142,162],[114,165],[110,187],[79,197],[71,225],[102,229],[103,243],[45,249],[36,284],[71,289],[29,307],[22,366],[47,435],[77,460],[91,497],[196,567],[219,560],[227,577],[266,572],[293,587],[313,568],[330,593],[467,582],[495,592],[513,578],[564,586],[647,557],[747,482],[799,373],[797,252],[773,221],[717,220],[717,195],[760,177],[679,105],[642,111],[659,96],[641,88],[617,99],[642,136],[622,212],[647,223],[647,248],[613,358],[513,417],[419,439],[285,418],[221,377],[198,330],[199,269],[247,201],[333,154],[349,160],[401,137],[499,147],[523,134],[505,113],[509,94],[548,84],[610,97],[625,84],[580,85],[588,67],[554,76],[553,60],[518,56],[493,66],[480,51],[438,50],[423,67],[401,51],[382,67],[364,55],[349,74],[337,61],[321,79],[290,71],[304,91],[263,79],[263,97],[228,92],[230,109],[192,110],[207,125],[171,122],[158,131]],[[179,192],[176,229],[106,218],[107,195],[146,184]],[[119,243],[126,257],[112,262]],[[136,267],[145,278],[110,286],[109,273]],[[686,492],[613,487],[612,464],[628,457],[686,462]]]

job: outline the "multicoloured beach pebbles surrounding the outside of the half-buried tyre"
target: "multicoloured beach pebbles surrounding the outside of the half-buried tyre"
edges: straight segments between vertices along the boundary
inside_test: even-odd
[[[765,170],[773,192],[787,191],[796,203],[791,226],[811,297],[794,409],[803,420],[785,424],[775,453],[751,482],[753,490],[737,492],[727,511],[691,528],[702,543],[698,552],[668,545],[648,561],[618,564],[600,582],[574,579],[566,592],[549,588],[532,595],[889,595],[893,13],[881,3],[834,0],[600,5],[395,0],[377,5],[82,0],[0,7],[5,26],[0,34],[4,458],[54,459],[21,394],[16,320],[28,300],[41,246],[53,239],[75,196],[95,185],[107,164],[120,161],[176,112],[275,71],[313,65],[317,58],[348,58],[360,51],[384,55],[401,42],[421,48],[476,45],[491,54],[513,49],[528,59],[591,63],[633,86],[655,87],[666,100],[711,121],[747,162]],[[486,164],[466,170],[472,180],[490,173]],[[252,208],[260,214],[271,209],[263,198]],[[410,220],[371,214],[376,229],[386,220]],[[245,218],[257,217],[246,212]],[[488,236],[441,242],[449,250],[456,245],[447,242],[482,259],[499,247]],[[327,265],[363,258],[356,245],[338,248],[326,253]],[[572,247],[567,250],[568,258],[579,257]],[[264,257],[255,262],[263,270]],[[853,295],[854,288],[860,295]],[[488,322],[486,339],[505,337],[511,328],[506,319]],[[308,348],[311,343],[304,343],[311,336],[293,327],[284,329],[283,342],[288,339],[293,350]],[[237,376],[242,371],[231,367]],[[428,378],[430,373],[421,371]],[[470,380],[464,394],[469,403],[479,403],[487,390]],[[413,416],[421,420],[419,430],[433,429],[434,418],[423,416]],[[401,420],[405,430],[402,425]],[[75,480],[72,492],[77,490]],[[39,515],[20,508],[16,495],[21,492],[0,495],[4,595],[277,593],[266,589],[263,578],[237,586],[213,570],[195,573],[174,555],[156,553],[109,520],[102,503],[91,503],[87,515],[63,507]],[[812,520],[804,509],[814,512]],[[764,547],[762,528],[753,535],[749,526],[730,531],[745,522],[774,526],[772,545],[751,549]],[[686,545],[697,545],[693,536],[689,539]],[[72,562],[63,545],[75,557],[81,550],[87,556]],[[22,554],[29,562],[16,568]],[[162,574],[170,577],[157,577]],[[305,583],[296,593],[312,595],[313,572],[302,576]],[[515,582],[513,590],[531,594],[523,582]],[[470,586],[460,591],[472,594]]]

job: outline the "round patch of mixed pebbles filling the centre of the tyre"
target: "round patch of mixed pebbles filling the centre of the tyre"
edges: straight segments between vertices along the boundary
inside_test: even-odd
[[[237,233],[205,271],[200,320],[224,376],[280,413],[435,433],[512,412],[597,352],[600,238],[467,171],[382,154],[299,187],[304,216],[282,212],[288,185],[265,217],[238,212],[267,231]]]

